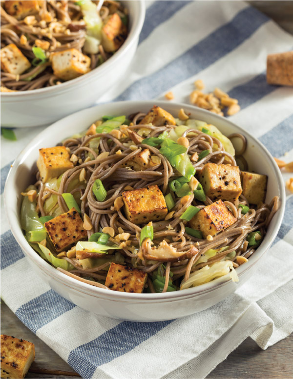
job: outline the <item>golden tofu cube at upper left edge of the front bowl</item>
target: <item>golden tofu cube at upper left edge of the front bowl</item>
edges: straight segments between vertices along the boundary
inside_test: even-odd
[[[37,166],[43,182],[59,177],[63,172],[74,167],[65,146],[40,149]]]

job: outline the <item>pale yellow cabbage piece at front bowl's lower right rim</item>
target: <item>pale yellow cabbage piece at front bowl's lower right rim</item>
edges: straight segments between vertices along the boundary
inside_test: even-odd
[[[196,287],[229,273],[232,281],[239,280],[238,275],[233,267],[233,263],[230,260],[225,260],[224,262],[216,262],[211,266],[205,266],[193,274],[190,274],[188,280],[181,283],[180,289],[185,290],[189,287]]]

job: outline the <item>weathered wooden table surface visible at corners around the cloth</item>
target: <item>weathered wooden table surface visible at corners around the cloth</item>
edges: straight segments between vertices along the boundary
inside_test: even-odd
[[[293,1],[249,1],[251,5],[275,20],[282,28],[293,34]],[[73,375],[51,375],[29,372],[26,378],[76,378],[76,373],[33,334],[14,313],[1,303],[1,334],[29,340],[35,344],[36,360],[32,371],[39,369],[62,370]],[[293,378],[293,335],[282,339],[263,351],[248,338],[234,350],[226,360],[220,363],[209,375],[216,378]]]

